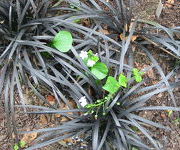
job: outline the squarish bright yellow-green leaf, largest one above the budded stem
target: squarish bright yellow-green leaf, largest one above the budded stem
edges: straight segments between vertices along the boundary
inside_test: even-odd
[[[116,93],[120,88],[119,82],[112,76],[107,78],[106,84],[103,86],[103,89],[108,91],[111,94]]]

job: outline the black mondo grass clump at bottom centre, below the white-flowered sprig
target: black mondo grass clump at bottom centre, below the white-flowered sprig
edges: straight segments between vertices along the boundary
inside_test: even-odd
[[[146,51],[145,48],[144,50]],[[72,52],[74,54],[77,54],[77,51],[74,48],[72,48]],[[164,74],[162,70],[159,69],[160,66],[158,65],[158,63],[155,61],[155,59],[152,58],[152,55],[148,53],[148,51],[146,52],[147,55],[150,57],[151,61],[153,62],[151,68],[157,68],[159,73],[163,76]],[[28,132],[21,131],[20,133],[43,133],[38,139],[36,139],[37,144],[29,147],[28,149],[40,148],[51,143],[58,142],[63,138],[81,135],[84,135],[85,140],[87,140],[89,143],[92,143],[92,146],[90,146],[88,149],[132,149],[133,147],[138,147],[140,149],[150,149],[151,146],[145,144],[144,141],[141,139],[141,136],[136,133],[133,128],[137,128],[138,131],[143,133],[152,144],[152,147],[154,147],[155,149],[160,149],[158,141],[152,138],[153,134],[150,133],[146,126],[150,125],[166,130],[170,130],[170,128],[143,118],[138,115],[138,112],[171,109],[174,111],[180,111],[180,108],[178,107],[147,107],[145,105],[146,102],[149,101],[151,97],[156,96],[156,94],[168,91],[172,92],[175,87],[178,87],[180,85],[179,82],[168,82],[168,80],[176,74],[175,70],[170,72],[168,75],[164,75],[164,78],[161,81],[151,86],[144,87],[142,86],[143,82],[135,85],[133,84],[133,82],[131,82],[131,88],[128,88],[125,91],[118,92],[118,94],[114,96],[114,98],[112,98],[109,103],[106,103],[108,111],[107,115],[103,116],[102,114],[99,114],[96,119],[94,115],[86,114],[87,110],[82,108],[81,105],[79,105],[78,100],[82,96],[86,96],[89,103],[94,103],[98,96],[102,96],[102,89],[101,87],[96,88],[96,86],[98,85],[94,85],[95,93],[98,90],[100,91],[93,95],[89,93],[89,88],[87,87],[88,85],[93,85],[93,83],[89,83],[91,80],[87,80],[86,71],[79,68],[81,62],[78,62],[78,56],[76,57],[76,59],[76,64],[74,63],[75,59],[68,62],[57,59],[59,63],[64,64],[63,70],[67,74],[66,77],[62,75],[62,70],[58,71],[52,65],[49,65],[48,67],[49,69],[51,69],[52,72],[54,72],[54,75],[49,74],[50,80],[52,80],[53,83],[56,85],[59,83],[59,88],[62,86],[63,89],[67,92],[66,97],[72,98],[80,108],[69,110],[56,110],[47,107],[27,105],[27,108],[36,109],[35,111],[28,112],[30,114],[61,114],[64,116],[69,116],[69,112],[73,113],[73,115],[70,116],[72,118],[70,121],[64,122],[62,124],[60,123],[54,128],[44,128]],[[119,65],[120,64],[116,63],[115,66],[117,69],[119,68]],[[125,66],[128,66],[130,68],[129,64],[126,64]],[[127,68],[125,70],[128,70]],[[145,71],[149,69],[150,68],[146,68]],[[39,74],[45,77],[45,74],[43,74],[42,72]],[[79,75],[81,75],[80,79],[77,78]],[[91,78],[89,77],[89,79]],[[148,82],[148,80],[145,80],[144,82]],[[168,85],[166,85],[167,82]],[[141,92],[145,92],[146,94],[139,95]],[[121,105],[117,105],[118,102]],[[81,115],[77,115],[77,112],[81,112]],[[44,140],[41,140],[42,138]]]

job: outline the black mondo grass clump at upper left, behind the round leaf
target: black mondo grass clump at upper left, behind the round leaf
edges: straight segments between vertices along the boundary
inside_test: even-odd
[[[38,72],[34,73],[33,69],[28,70],[26,66],[46,73],[46,61],[54,63],[54,60],[49,61],[49,57],[53,59],[53,54],[48,52],[59,53],[50,46],[50,42],[57,32],[65,27],[63,25],[60,28],[51,27],[57,23],[48,21],[57,13],[56,10],[50,10],[53,6],[54,3],[47,0],[3,0],[0,2],[0,93],[4,99],[1,105],[4,105],[9,121],[9,134],[12,134],[10,120],[12,126],[15,127],[13,117],[15,93],[18,94],[20,103],[25,106],[22,85],[32,88],[45,103],[51,106],[34,88],[40,85],[36,77]],[[69,16],[65,15],[65,17]],[[47,53],[49,57],[46,56]],[[49,83],[47,76],[46,80]],[[13,132],[16,134],[15,128]]]

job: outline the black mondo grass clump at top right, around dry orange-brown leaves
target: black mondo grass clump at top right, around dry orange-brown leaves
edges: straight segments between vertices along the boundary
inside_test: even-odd
[[[130,34],[132,23],[137,21],[133,35],[136,36],[136,41],[139,44],[153,45],[178,60],[180,59],[180,43],[176,36],[180,32],[179,27],[168,28],[157,22],[134,19],[131,9],[133,7],[132,0],[114,0],[113,5],[105,0],[99,0],[98,3],[94,0],[86,3],[80,0],[67,1],[73,3],[80,14],[86,14],[87,16],[92,14],[99,15],[99,17],[92,18],[92,20],[102,28],[106,27],[111,30],[112,33],[108,36],[113,39],[117,39],[120,35],[124,39],[125,37],[127,38]],[[88,4],[92,7],[88,7]],[[104,7],[108,8],[108,11],[104,10]]]

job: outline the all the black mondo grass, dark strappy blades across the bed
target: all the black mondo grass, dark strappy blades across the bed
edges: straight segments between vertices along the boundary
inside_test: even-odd
[[[167,130],[170,128],[140,117],[138,112],[180,111],[179,107],[146,106],[146,102],[150,101],[151,97],[161,92],[168,92],[176,106],[173,89],[180,86],[180,82],[171,83],[169,80],[176,74],[175,69],[177,68],[167,75],[164,74],[146,45],[149,44],[148,41],[151,41],[151,44],[152,41],[162,44],[164,46],[162,49],[178,58],[179,42],[172,35],[173,32],[178,32],[178,28],[171,30],[158,25],[169,35],[169,38],[164,37],[166,40],[162,41],[159,35],[144,34],[144,32],[142,34],[136,31],[136,25],[139,22],[145,23],[145,21],[135,20],[127,34],[127,39],[117,40],[117,35],[126,35],[125,26],[128,24],[129,28],[131,15],[127,15],[128,11],[125,9],[123,1],[116,0],[118,9],[113,8],[105,0],[100,1],[110,9],[110,12],[105,12],[94,0],[90,0],[88,3],[68,0],[67,2],[71,2],[73,5],[72,8],[52,7],[52,3],[48,0],[0,2],[0,19],[2,20],[0,23],[0,32],[2,33],[0,37],[2,39],[2,43],[0,43],[0,92],[4,92],[7,115],[10,117],[14,113],[15,106],[24,108],[23,110],[26,110],[28,114],[60,114],[70,118],[67,122],[59,122],[53,128],[17,131],[20,134],[32,132],[40,134],[34,141],[35,144],[26,148],[27,150],[41,148],[63,139],[81,135],[88,143],[92,143],[88,145],[88,149],[93,150],[131,150],[135,147],[147,150],[152,147],[160,149],[158,142],[152,137],[152,133],[146,126],[150,125]],[[59,11],[68,11],[68,13],[56,16],[55,12]],[[54,13],[54,16],[49,16],[48,12]],[[113,15],[115,16],[111,17]],[[93,20],[90,27],[74,22],[74,20],[83,18]],[[112,20],[113,23],[108,22],[108,19]],[[99,32],[103,29],[104,24],[107,24],[113,31],[112,36]],[[157,27],[157,24],[149,22],[148,24]],[[61,53],[48,44],[54,35],[62,29],[73,33],[74,45],[68,53]],[[141,39],[140,42],[131,41],[134,34],[141,34],[141,37],[149,40],[145,42]],[[96,118],[94,114],[86,114],[88,110],[80,105],[79,99],[85,96],[88,103],[93,104],[97,99],[104,97],[106,92],[102,85],[105,80],[102,81],[102,84],[96,82],[96,77],[79,57],[80,52],[91,49],[98,54],[103,63],[112,69],[109,74],[117,77],[124,72],[128,77],[131,77],[131,70],[134,68],[133,44],[144,51],[151,61],[151,66],[143,71],[155,68],[162,80],[146,87],[143,86],[144,82],[148,82],[146,79],[137,84],[134,80],[130,80],[128,88],[119,91],[111,98],[111,101],[105,103],[107,112],[105,116],[99,113]],[[43,56],[42,52],[48,52],[50,58]],[[49,107],[26,105],[23,101],[21,87],[24,83],[31,87]],[[46,86],[54,93],[57,99],[56,106],[49,104],[41,95],[37,87],[38,84]],[[14,105],[15,89],[21,98],[21,105]],[[141,95],[141,93],[145,94]],[[71,106],[69,99],[73,99],[76,108]],[[68,106],[68,109],[59,109],[62,102]],[[29,111],[29,108],[33,111]],[[12,121],[14,121],[13,117]],[[150,141],[150,144],[145,143],[134,128],[141,132]],[[14,132],[16,132],[15,129]]]

